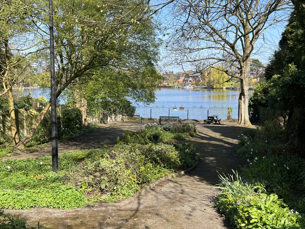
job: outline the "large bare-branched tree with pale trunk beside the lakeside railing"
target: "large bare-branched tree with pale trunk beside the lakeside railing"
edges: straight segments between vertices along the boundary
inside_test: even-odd
[[[221,65],[240,79],[238,124],[248,118],[248,71],[260,35],[286,17],[289,1],[177,1],[169,20],[166,47],[171,64],[194,65],[198,71]],[[240,75],[234,74],[239,71]]]

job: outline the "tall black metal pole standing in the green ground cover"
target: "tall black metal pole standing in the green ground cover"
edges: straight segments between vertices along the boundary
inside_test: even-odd
[[[50,62],[51,62],[51,123],[52,123],[52,170],[58,171],[58,145],[57,145],[57,115],[56,115],[56,81],[54,63],[54,30],[53,30],[53,2],[50,4]]]

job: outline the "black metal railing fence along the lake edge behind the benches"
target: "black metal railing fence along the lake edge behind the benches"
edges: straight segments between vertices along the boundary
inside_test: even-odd
[[[182,119],[206,119],[208,115],[218,115],[227,119],[228,107],[136,107],[136,115],[142,118],[159,118],[159,116],[179,116]],[[232,118],[238,118],[238,107],[232,107]]]

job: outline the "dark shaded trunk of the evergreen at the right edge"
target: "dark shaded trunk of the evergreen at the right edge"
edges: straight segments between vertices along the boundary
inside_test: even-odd
[[[295,147],[305,143],[305,112],[301,109],[289,111],[284,140]]]

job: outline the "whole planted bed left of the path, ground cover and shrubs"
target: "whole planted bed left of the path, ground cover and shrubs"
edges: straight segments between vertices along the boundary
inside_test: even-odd
[[[143,134],[136,133],[133,136]],[[147,135],[151,136],[149,131]],[[197,160],[192,144],[143,139],[150,140],[143,144],[119,141],[114,147],[60,154],[58,173],[52,172],[50,156],[0,162],[0,206],[71,209],[115,202]]]

